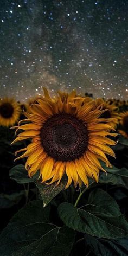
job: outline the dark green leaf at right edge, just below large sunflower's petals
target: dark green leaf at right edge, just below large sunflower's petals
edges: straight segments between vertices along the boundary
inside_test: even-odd
[[[106,170],[107,175],[105,173],[101,173],[99,183],[109,183],[128,188],[128,169],[118,169],[114,166],[113,168],[106,168],[104,163],[101,163],[101,165]]]

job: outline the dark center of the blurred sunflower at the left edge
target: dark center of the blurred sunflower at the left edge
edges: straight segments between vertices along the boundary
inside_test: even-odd
[[[3,118],[10,118],[14,112],[14,108],[10,103],[3,103],[0,106],[0,114]]]

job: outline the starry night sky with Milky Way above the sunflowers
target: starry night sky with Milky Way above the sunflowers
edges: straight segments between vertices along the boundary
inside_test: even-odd
[[[0,1],[0,97],[128,98],[127,0]]]

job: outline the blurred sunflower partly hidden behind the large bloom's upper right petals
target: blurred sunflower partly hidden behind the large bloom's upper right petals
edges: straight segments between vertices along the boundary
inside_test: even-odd
[[[107,102],[101,98],[96,99],[95,106],[98,107],[100,105],[102,105],[103,110],[106,109],[106,111],[103,114],[101,114],[100,118],[110,119],[108,124],[115,129],[120,119],[119,113],[117,112],[118,107],[116,107],[114,103],[111,104],[109,101]]]

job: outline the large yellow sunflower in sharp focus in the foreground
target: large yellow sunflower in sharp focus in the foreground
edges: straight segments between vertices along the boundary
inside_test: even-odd
[[[18,150],[22,152],[20,159],[28,157],[25,168],[29,176],[40,170],[42,182],[59,184],[66,173],[68,182],[66,188],[74,182],[81,186],[82,182],[88,185],[88,178],[98,182],[99,170],[105,171],[99,159],[111,167],[105,154],[113,156],[114,152],[108,145],[115,145],[106,136],[110,134],[110,125],[103,123],[109,119],[99,118],[106,110],[101,107],[94,109],[95,101],[82,104],[85,98],[59,92],[58,97],[52,100],[44,88],[44,100],[37,100],[31,105],[31,114],[24,113],[27,124],[17,126],[16,132],[24,130],[17,135],[14,142],[31,138],[27,148]],[[16,152],[16,154],[17,154]]]

